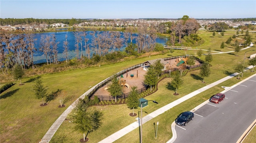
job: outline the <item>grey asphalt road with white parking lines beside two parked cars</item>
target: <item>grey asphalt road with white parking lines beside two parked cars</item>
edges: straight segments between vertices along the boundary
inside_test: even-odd
[[[176,125],[174,143],[236,143],[256,119],[256,76],[224,93],[220,104],[208,102],[186,126]]]

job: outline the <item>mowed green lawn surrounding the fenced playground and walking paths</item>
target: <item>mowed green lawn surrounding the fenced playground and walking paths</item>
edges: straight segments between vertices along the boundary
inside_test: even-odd
[[[221,51],[220,43],[226,41],[228,37],[234,35],[235,31],[225,32],[224,37],[220,37],[216,34],[212,36],[212,32],[199,31],[200,36],[204,38],[205,43],[198,46],[198,49],[208,49],[215,51]],[[230,35],[228,35],[230,34]],[[253,42],[255,40],[255,35],[252,36]],[[218,43],[216,42],[218,41]],[[216,42],[216,43],[215,43]],[[193,47],[194,48],[194,47]],[[149,102],[149,106],[143,108],[148,114],[154,110],[182,97],[186,94],[199,89],[207,84],[210,84],[214,81],[219,80],[231,73],[234,72],[234,65],[237,62],[244,60],[244,52],[246,57],[255,53],[255,51],[249,51],[255,49],[253,46],[250,49],[240,51],[236,56],[236,53],[225,53],[213,55],[214,61],[212,61],[211,75],[205,78],[206,83],[202,84],[198,80],[199,71],[188,72],[188,74],[183,78],[184,84],[178,90],[179,96],[174,96],[174,91],[166,89],[167,82],[171,81],[171,78],[165,78],[162,80],[158,88],[159,90],[147,96],[147,100],[156,100],[159,104],[154,104]],[[232,46],[228,45],[223,49],[224,51],[234,50]],[[74,69],[70,71],[64,71],[59,73],[44,74],[41,75],[43,83],[45,86],[48,86],[48,92],[56,91],[58,89],[66,90],[68,94],[74,96],[74,100],[81,96],[84,92],[90,89],[91,86],[94,86],[98,82],[108,78],[109,76],[115,74],[116,72],[122,71],[133,65],[137,65],[144,61],[150,59],[158,59],[164,57],[170,57],[171,55],[182,55],[182,54],[194,55],[195,51],[183,51],[175,50],[174,53],[168,53],[165,55],[157,55],[134,59],[131,61],[124,61],[121,63],[116,63],[112,65],[102,65],[101,67],[91,67],[86,69]],[[204,59],[204,56],[201,57]],[[246,59],[247,63],[248,59]],[[247,64],[246,64],[247,65]],[[253,72],[244,73],[246,78],[252,75]],[[243,79],[242,78],[242,79]],[[204,93],[198,94],[190,100],[187,100],[184,103],[179,104],[178,106],[168,110],[164,114],[148,121],[144,124],[143,136],[145,142],[166,142],[172,137],[172,132],[170,124],[174,121],[178,113],[184,110],[191,110],[200,103],[208,100],[208,98],[216,93],[220,92],[223,89],[220,86],[231,86],[240,80],[232,78],[221,85],[217,85],[209,90],[206,90]],[[39,142],[40,139],[44,136],[46,131],[50,128],[52,123],[62,114],[64,110],[74,101],[66,103],[66,107],[58,108],[58,102],[51,101],[47,106],[39,106],[42,101],[36,99],[35,95],[32,92],[33,77],[22,79],[24,85],[18,85],[16,82],[14,86],[1,93],[0,99],[0,118],[1,118],[1,142]],[[96,143],[112,133],[122,129],[126,125],[133,123],[135,118],[130,117],[129,113],[132,110],[127,108],[126,104],[114,105],[114,106],[93,106],[92,108],[98,109],[103,112],[102,126],[97,130],[88,135],[90,143]],[[135,113],[138,114],[140,108],[135,110]],[[143,113],[143,116],[146,116],[146,113]],[[54,135],[52,142],[60,141],[61,139],[67,143],[78,143],[81,139],[82,133],[74,131],[73,124],[69,122],[70,120],[65,120],[56,134]],[[160,122],[158,128],[158,137],[154,138],[154,122]],[[132,131],[131,133],[125,135],[124,137],[118,139],[116,142],[139,142],[138,129]]]

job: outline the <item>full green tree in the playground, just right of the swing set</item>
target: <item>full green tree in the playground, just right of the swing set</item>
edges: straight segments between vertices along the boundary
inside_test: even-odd
[[[150,91],[152,90],[152,86],[157,84],[157,72],[154,68],[149,67],[148,71],[144,75],[144,84],[150,86]]]

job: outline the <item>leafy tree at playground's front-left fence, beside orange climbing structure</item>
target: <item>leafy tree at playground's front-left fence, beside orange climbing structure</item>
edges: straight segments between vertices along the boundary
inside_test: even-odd
[[[115,97],[115,102],[116,102],[116,97],[121,96],[123,93],[122,86],[119,84],[119,80],[116,77],[116,75],[113,77],[111,80],[111,84],[108,88],[108,91],[110,92],[111,96]]]

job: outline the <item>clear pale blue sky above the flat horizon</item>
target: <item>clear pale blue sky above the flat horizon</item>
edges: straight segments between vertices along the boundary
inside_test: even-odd
[[[256,18],[256,0],[0,0],[0,18]]]

